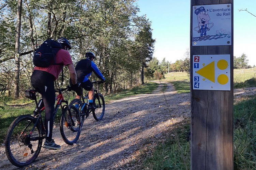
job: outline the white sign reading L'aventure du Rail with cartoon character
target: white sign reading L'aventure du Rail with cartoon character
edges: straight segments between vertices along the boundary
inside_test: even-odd
[[[192,46],[231,45],[231,3],[193,6]]]

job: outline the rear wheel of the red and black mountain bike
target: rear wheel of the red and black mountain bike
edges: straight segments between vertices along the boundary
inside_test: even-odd
[[[44,137],[42,137],[40,123],[36,124],[31,134],[35,122],[36,119],[32,116],[21,115],[11,123],[7,130],[5,152],[7,158],[16,167],[28,166],[40,153]]]

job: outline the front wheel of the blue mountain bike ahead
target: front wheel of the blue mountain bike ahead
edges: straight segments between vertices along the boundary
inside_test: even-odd
[[[105,112],[105,100],[103,98],[103,95],[100,93],[98,95],[99,95],[99,99],[97,98],[93,99],[93,103],[96,109],[92,111],[92,115],[94,119],[97,121],[103,118],[104,112]]]

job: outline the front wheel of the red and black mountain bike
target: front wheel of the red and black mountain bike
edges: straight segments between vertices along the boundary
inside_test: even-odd
[[[60,118],[60,134],[64,142],[68,145],[73,145],[77,142],[81,132],[80,118],[78,110],[75,106],[70,106],[70,116],[69,109],[65,107],[62,111]],[[74,121],[74,126],[72,125],[72,120]]]

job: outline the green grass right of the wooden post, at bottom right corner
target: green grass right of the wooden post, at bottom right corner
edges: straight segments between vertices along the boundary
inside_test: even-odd
[[[234,105],[235,169],[256,167],[256,97]]]

